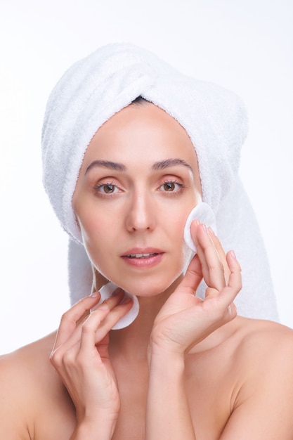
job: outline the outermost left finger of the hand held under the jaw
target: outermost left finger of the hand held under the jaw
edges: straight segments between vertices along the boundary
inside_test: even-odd
[[[86,313],[89,313],[93,306],[98,304],[99,300],[100,294],[95,292],[89,297],[80,299],[79,302],[74,304],[74,306],[63,314],[53,349],[55,349],[55,347],[59,347],[68,339],[68,337],[70,337],[70,335],[72,335],[72,332],[74,332],[74,330],[77,328],[79,321]]]

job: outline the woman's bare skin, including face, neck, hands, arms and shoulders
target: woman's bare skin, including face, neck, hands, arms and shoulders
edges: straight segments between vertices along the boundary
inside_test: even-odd
[[[96,293],[64,314],[58,333],[2,356],[1,438],[292,440],[293,331],[237,316],[240,265],[197,221],[183,276],[183,226],[200,200],[193,146],[162,110],[126,108],[98,130],[74,211],[96,270],[136,294],[140,313],[111,330],[131,302],[118,290],[89,313]],[[127,256],[155,246],[158,261]],[[204,301],[194,296],[202,278]]]

